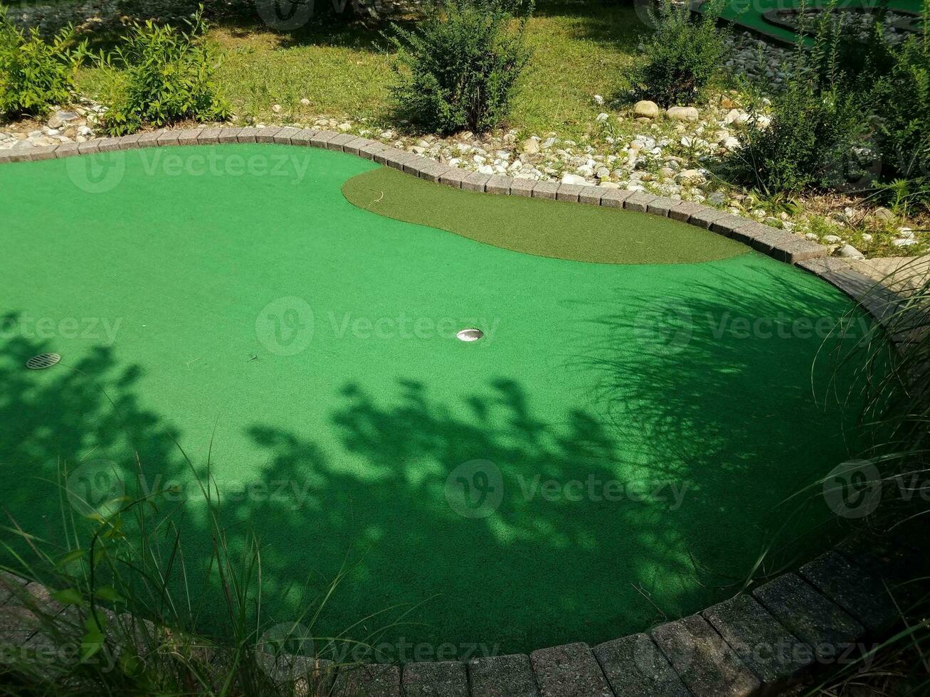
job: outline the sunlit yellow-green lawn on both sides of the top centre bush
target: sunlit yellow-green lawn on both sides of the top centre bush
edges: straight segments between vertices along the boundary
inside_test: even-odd
[[[593,96],[612,93],[645,31],[630,7],[565,0],[538,5],[526,28],[533,57],[510,125],[540,136],[589,135],[594,117],[607,111]],[[319,114],[378,121],[387,112],[392,53],[375,29],[323,24],[286,34],[220,22],[208,38],[226,51],[218,77],[243,121],[299,122]],[[79,86],[94,94],[100,75],[83,71]],[[272,112],[274,104],[280,113]]]

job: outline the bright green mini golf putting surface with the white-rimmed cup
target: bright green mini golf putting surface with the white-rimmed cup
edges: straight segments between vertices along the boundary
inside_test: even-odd
[[[458,233],[342,193],[376,179],[388,215]],[[733,595],[766,546],[827,544],[817,497],[777,535],[782,502],[855,450],[830,357],[868,323],[841,346],[843,295],[704,230],[244,144],[7,164],[0,218],[0,502],[35,534],[60,540],[62,465],[93,504],[138,454],[206,564],[177,441],[210,454],[231,543],[259,535],[264,622],[344,570],[319,635],[459,657],[617,638]],[[495,246],[532,247],[525,219],[589,261]]]

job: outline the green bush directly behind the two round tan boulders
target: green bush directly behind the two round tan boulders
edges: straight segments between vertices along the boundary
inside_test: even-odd
[[[655,25],[645,56],[627,73],[633,99],[651,99],[663,107],[700,99],[717,77],[724,57],[724,32],[717,27],[722,5],[711,0],[699,19],[687,5],[662,0],[650,10]]]

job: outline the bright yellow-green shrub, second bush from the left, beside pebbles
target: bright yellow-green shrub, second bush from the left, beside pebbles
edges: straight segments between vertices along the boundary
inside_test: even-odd
[[[188,26],[179,32],[151,20],[136,23],[126,44],[105,59],[111,76],[105,98],[109,111],[102,121],[107,133],[121,136],[143,125],[217,121],[229,115],[214,77],[219,54],[206,42],[202,11]]]

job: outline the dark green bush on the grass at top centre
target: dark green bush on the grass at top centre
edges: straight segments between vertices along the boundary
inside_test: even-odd
[[[498,0],[448,0],[414,31],[393,24],[395,115],[441,134],[499,125],[530,56],[525,26],[532,5],[519,10]]]

